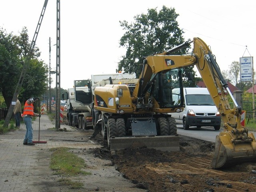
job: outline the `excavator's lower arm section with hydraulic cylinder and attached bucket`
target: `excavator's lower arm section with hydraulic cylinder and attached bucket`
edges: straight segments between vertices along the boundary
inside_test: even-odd
[[[210,49],[200,38],[194,38],[196,67],[218,108],[224,122],[224,131],[216,136],[212,168],[223,168],[241,162],[256,160],[256,141],[252,133],[241,125],[242,108],[238,106]],[[230,95],[234,108],[230,107]]]

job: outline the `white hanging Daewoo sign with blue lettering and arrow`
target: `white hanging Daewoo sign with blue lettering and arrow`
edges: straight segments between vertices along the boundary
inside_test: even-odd
[[[240,58],[240,81],[252,81],[252,58]]]

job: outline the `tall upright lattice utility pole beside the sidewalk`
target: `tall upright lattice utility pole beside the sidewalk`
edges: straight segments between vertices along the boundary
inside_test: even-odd
[[[57,0],[56,20],[56,113],[55,129],[60,128],[60,0]]]

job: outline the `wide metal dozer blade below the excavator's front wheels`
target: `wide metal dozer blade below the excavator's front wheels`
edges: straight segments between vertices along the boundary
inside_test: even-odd
[[[110,138],[110,151],[140,146],[161,151],[179,151],[180,138],[178,135]]]

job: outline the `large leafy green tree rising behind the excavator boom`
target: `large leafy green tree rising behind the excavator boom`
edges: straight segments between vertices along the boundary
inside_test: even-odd
[[[174,8],[163,6],[159,12],[154,8],[148,9],[147,14],[135,16],[134,23],[120,21],[120,26],[126,31],[120,39],[120,46],[126,48],[126,55],[122,56],[122,60],[118,62],[116,71],[135,72],[139,76],[142,56],[162,52],[182,44],[184,32],[176,21],[178,16]],[[174,54],[184,53],[186,53],[185,49]],[[188,68],[188,71],[193,71],[193,66]]]

